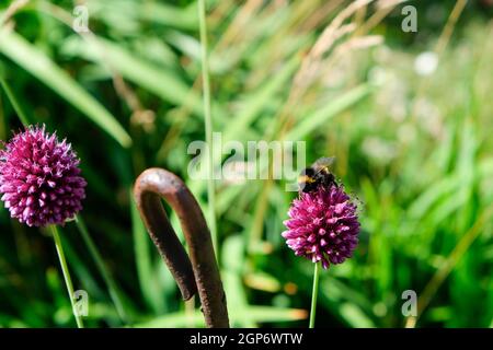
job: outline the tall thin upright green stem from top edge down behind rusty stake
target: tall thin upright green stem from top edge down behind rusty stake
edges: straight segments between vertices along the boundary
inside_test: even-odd
[[[217,245],[217,225],[216,225],[216,189],[214,183],[214,151],[213,151],[213,117],[210,114],[210,83],[209,83],[209,61],[207,56],[207,23],[205,0],[198,0],[198,20],[200,30],[200,47],[202,47],[202,80],[204,90],[204,118],[206,142],[209,145],[208,154],[208,178],[207,178],[207,198],[210,235],[213,236],[213,246],[216,252],[216,258],[219,256]]]

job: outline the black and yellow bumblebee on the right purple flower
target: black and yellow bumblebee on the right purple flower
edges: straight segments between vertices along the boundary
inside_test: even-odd
[[[324,187],[336,186],[334,174],[331,173],[330,166],[334,163],[335,158],[321,158],[311,166],[305,168],[298,177],[299,190],[310,192],[316,190],[320,185]]]

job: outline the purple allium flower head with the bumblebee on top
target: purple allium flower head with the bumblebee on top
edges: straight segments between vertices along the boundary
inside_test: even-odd
[[[321,261],[326,269],[349,258],[358,244],[356,210],[342,186],[319,186],[293,201],[283,237],[296,255]]]

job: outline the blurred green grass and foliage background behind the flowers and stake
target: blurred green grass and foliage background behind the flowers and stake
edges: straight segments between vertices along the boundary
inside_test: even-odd
[[[30,120],[81,158],[82,217],[125,303],[123,322],[68,223],[85,324],[203,326],[130,195],[141,171],[160,166],[208,210],[206,183],[187,178],[187,145],[205,139],[196,2],[31,0],[5,11],[13,2],[0,4],[0,73]],[[415,33],[401,28],[408,4]],[[318,327],[493,326],[492,14],[491,1],[207,1],[215,131],[302,140],[308,162],[335,155],[364,203],[354,258],[321,276]],[[0,139],[20,127],[2,91]],[[308,324],[312,264],[280,237],[295,197],[284,185],[216,182],[232,326]],[[0,229],[0,326],[74,326],[47,232],[4,209]],[[405,290],[417,293],[417,322],[401,312]]]

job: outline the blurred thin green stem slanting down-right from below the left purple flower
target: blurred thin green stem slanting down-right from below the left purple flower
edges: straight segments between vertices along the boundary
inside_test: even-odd
[[[79,229],[80,234],[82,235],[82,240],[84,241],[89,254],[91,254],[92,259],[94,260],[101,276],[104,279],[104,282],[107,285],[110,298],[112,299],[113,303],[115,304],[116,312],[118,313],[119,318],[123,323],[128,323],[128,317],[125,313],[125,307],[123,306],[123,302],[121,299],[119,288],[117,287],[115,280],[113,279],[112,275],[106,268],[106,265],[104,264],[103,258],[101,257],[100,252],[98,250],[94,241],[92,241],[91,235],[89,234],[88,228],[85,226],[84,221],[80,215],[76,217],[76,224]]]

